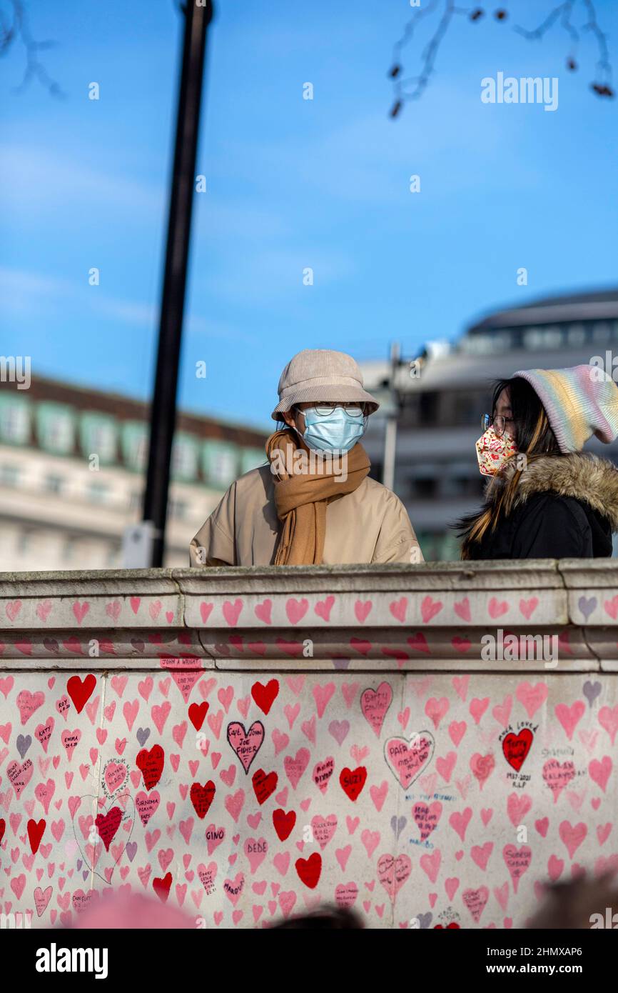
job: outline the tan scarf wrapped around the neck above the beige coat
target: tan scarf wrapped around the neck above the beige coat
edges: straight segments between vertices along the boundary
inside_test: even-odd
[[[342,459],[322,460],[287,428],[270,436],[266,454],[275,481],[277,516],[283,522],[275,565],[319,565],[326,533],[326,504],[360,486],[371,468],[369,457],[357,442]],[[295,465],[302,471],[295,472]],[[343,467],[347,472],[345,481],[340,479]]]

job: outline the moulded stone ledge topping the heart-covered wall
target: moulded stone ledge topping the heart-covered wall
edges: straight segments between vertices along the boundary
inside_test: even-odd
[[[481,654],[481,639],[501,632],[525,657]],[[539,637],[556,638],[556,666],[531,647],[526,656],[523,639]],[[165,658],[230,670],[615,671],[618,560],[0,574],[0,668],[139,670]]]

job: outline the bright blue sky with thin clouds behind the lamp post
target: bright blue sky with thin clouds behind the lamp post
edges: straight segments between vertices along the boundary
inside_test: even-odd
[[[589,35],[571,73],[559,26],[538,42],[513,31],[552,2],[511,0],[504,23],[496,2],[478,23],[455,18],[430,86],[396,120],[387,71],[409,0],[216,6],[183,407],[268,426],[281,368],[302,348],[368,359],[397,339],[413,355],[494,307],[615,284],[618,101],[588,88]],[[618,4],[596,7],[618,62]],[[28,9],[35,38],[58,43],[42,58],[66,96],[36,81],[13,92],[19,47],[0,62],[2,352],[31,355],[33,373],[148,398],[181,17],[172,0]],[[405,50],[406,75],[435,23]],[[498,71],[557,76],[556,111],[482,103],[481,79]]]

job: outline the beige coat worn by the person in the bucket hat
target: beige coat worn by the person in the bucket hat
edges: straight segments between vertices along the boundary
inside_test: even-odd
[[[190,543],[192,566],[272,565],[280,521],[270,465],[241,476]],[[201,549],[201,551],[200,551]],[[351,494],[326,506],[323,563],[423,562],[399,497],[366,477]]]

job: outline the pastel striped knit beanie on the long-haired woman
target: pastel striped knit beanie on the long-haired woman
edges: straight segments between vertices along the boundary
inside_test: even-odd
[[[618,436],[618,386],[596,365],[528,369],[527,379],[546,409],[560,452],[579,452],[595,435],[606,444]]]

